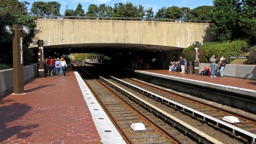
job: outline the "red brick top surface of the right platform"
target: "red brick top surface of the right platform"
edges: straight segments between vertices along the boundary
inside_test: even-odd
[[[235,86],[238,88],[256,90],[256,81],[242,78],[231,78],[231,77],[208,77],[206,75],[194,75],[194,74],[181,74],[177,72],[170,72],[168,70],[143,70],[150,73],[170,75],[173,77],[195,79],[197,81],[212,82],[220,85]]]

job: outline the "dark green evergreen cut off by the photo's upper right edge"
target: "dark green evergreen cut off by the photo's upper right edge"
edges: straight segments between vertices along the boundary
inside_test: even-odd
[[[239,25],[246,33],[249,43],[256,44],[256,1],[244,0],[242,13],[239,15]]]

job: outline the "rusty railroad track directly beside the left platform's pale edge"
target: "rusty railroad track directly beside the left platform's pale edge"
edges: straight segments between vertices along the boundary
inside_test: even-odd
[[[81,69],[79,70],[82,73]],[[85,83],[97,97],[101,107],[108,113],[112,122],[121,132],[127,143],[183,143],[170,132],[165,131],[152,118],[127,103],[119,94],[111,92],[106,84],[102,84],[91,74],[82,73],[86,78]],[[91,78],[89,78],[91,77]],[[144,110],[145,112],[145,110]],[[134,124],[144,124],[146,130],[133,130]]]

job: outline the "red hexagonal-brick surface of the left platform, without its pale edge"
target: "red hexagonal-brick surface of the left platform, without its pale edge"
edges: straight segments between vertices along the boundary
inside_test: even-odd
[[[101,143],[73,71],[0,97],[0,143]]]

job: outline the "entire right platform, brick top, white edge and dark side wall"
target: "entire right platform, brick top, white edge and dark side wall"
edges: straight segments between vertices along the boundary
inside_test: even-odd
[[[178,92],[256,113],[256,81],[234,77],[209,77],[168,70],[131,70],[139,79]],[[156,80],[155,80],[156,79]],[[159,79],[159,80],[157,80]]]

